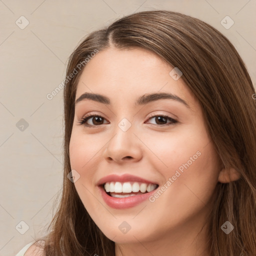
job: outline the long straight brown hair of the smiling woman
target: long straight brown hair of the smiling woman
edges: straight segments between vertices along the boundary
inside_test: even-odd
[[[182,71],[182,79],[199,100],[207,130],[223,165],[240,173],[217,183],[208,232],[211,256],[256,255],[256,100],[255,89],[230,41],[207,23],[167,10],[142,11],[94,31],[69,57],[66,75],[91,58],[95,50],[141,47]],[[63,189],[45,237],[45,255],[114,256],[114,242],[96,226],[84,208],[70,172],[69,140],[77,81],[82,65],[64,86]],[[67,77],[66,76],[66,77]],[[234,229],[221,229],[225,221]]]

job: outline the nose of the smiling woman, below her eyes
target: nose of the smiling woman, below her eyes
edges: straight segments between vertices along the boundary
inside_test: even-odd
[[[132,126],[126,131],[117,126],[103,153],[106,161],[137,162],[142,158],[141,141],[133,131]]]

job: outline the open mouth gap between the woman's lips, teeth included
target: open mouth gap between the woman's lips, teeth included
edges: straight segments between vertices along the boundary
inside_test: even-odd
[[[111,181],[102,184],[102,187],[109,196],[122,198],[151,192],[155,190],[158,185],[143,182]]]

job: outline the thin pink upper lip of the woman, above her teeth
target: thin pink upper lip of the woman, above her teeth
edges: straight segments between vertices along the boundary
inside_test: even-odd
[[[109,181],[119,181],[119,182],[130,182],[130,181],[137,181],[142,183],[151,183],[151,184],[157,184],[154,181],[150,181],[141,177],[137,177],[131,174],[123,174],[123,175],[116,175],[116,174],[110,174],[105,177],[102,177],[98,180],[97,185],[102,185]]]

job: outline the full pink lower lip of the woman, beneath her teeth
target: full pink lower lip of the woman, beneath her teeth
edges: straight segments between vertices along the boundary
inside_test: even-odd
[[[105,192],[105,189],[101,186],[98,186],[98,188],[100,190],[101,196],[103,197],[103,200],[105,201],[105,203],[109,207],[115,208],[115,209],[126,209],[130,207],[134,207],[139,203],[141,203],[142,201],[145,201],[146,199],[148,199],[148,197],[155,192],[155,189],[154,189],[153,191],[147,192],[144,194],[131,195],[131,196],[119,198],[119,197],[113,197],[108,195]]]

